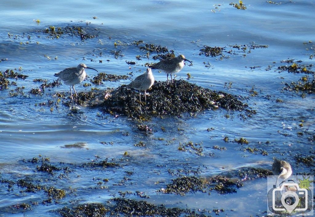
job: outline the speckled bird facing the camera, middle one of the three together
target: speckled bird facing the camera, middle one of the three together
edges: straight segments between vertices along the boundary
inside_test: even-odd
[[[135,78],[130,84],[127,85],[127,87],[134,88],[136,90],[139,90],[139,99],[141,102],[141,94],[140,91],[144,90],[144,99],[146,101],[146,90],[148,90],[154,83],[154,77],[152,74],[151,68],[146,69],[146,73],[143,73],[142,75],[139,75]]]

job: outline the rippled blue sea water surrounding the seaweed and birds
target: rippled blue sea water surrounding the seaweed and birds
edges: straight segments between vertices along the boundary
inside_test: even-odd
[[[24,87],[24,95],[10,97],[15,86],[0,91],[1,178],[41,180],[41,185],[64,189],[67,195],[58,203],[47,205],[42,204],[47,199],[43,192],[20,193],[22,189],[16,185],[13,192],[7,192],[7,184],[0,183],[0,214],[11,215],[6,210],[14,204],[37,201],[38,205],[32,206],[30,211],[12,215],[55,215],[49,211],[78,203],[106,204],[108,199],[120,197],[120,191],[142,191],[150,198],[133,194],[126,197],[183,209],[225,209],[227,216],[263,215],[267,209],[266,179],[245,181],[237,193],[228,195],[198,192],[179,196],[157,194],[156,191],[165,188],[179,174],[187,175],[177,172],[181,169],[198,169],[195,176],[205,179],[221,172],[230,177],[240,168],[271,169],[273,157],[288,160],[294,172],[310,173],[312,168],[297,167],[293,157],[313,153],[314,144],[307,138],[314,129],[315,97],[306,95],[302,98],[301,93],[283,91],[284,83],[298,81],[305,74],[278,73],[277,68],[288,65],[280,62],[287,59],[313,64],[314,60],[309,57],[314,54],[314,45],[309,41],[314,41],[315,3],[243,1],[246,10],[233,8],[229,3],[176,0],[2,2],[0,12],[4,20],[0,24],[0,59],[8,60],[0,62],[0,71],[15,69],[18,72],[21,67],[20,73],[29,77],[10,80],[15,81],[17,87]],[[39,23],[35,22],[37,19]],[[98,37],[81,41],[76,36],[62,35],[52,39],[43,33],[49,26],[82,26],[86,32]],[[29,93],[41,84],[33,79],[52,82],[54,73],[81,62],[99,72],[119,75],[133,72],[137,76],[145,70],[146,62],[155,62],[154,54],[149,59],[136,60],[136,55],[146,54],[130,45],[139,40],[167,46],[175,55],[184,54],[193,62],[193,66],[186,65],[176,79],[186,79],[186,74],[190,73],[193,78],[189,82],[241,96],[241,100],[257,113],[244,119],[240,116],[242,112],[219,109],[198,112],[196,116],[183,114],[181,118],[154,118],[146,122],[153,133],[146,134],[137,130],[136,122],[107,114],[99,116],[97,109],[78,107],[79,112],[72,114],[62,103],[54,106],[53,111],[49,106],[39,106],[39,103],[56,100],[52,98],[55,92],[69,94],[66,85],[48,88],[42,96]],[[114,42],[123,45],[115,47]],[[253,43],[268,45],[268,48],[242,52],[230,47]],[[225,52],[222,59],[199,55],[204,45],[225,47],[232,53]],[[118,50],[123,56],[115,58],[111,51]],[[126,61],[136,64],[130,66]],[[314,71],[313,67],[310,69]],[[166,80],[164,73],[153,73],[156,80]],[[96,72],[87,70],[87,74],[93,78]],[[313,75],[309,76],[312,78]],[[129,82],[105,82],[96,87],[105,90]],[[89,83],[89,80],[83,83]],[[77,85],[77,92],[95,87],[82,84]],[[258,94],[251,96],[252,90]],[[283,102],[278,103],[277,99]],[[299,126],[301,122],[303,127]],[[213,130],[208,132],[208,128]],[[310,130],[306,131],[308,128]],[[224,137],[229,137],[230,141],[224,142]],[[249,144],[233,142],[241,137]],[[146,147],[134,146],[140,141]],[[178,150],[180,143],[189,141],[202,143],[202,156]],[[73,144],[76,145],[70,146],[72,148],[67,146]],[[212,149],[215,145],[226,147],[226,150]],[[268,155],[249,153],[243,150],[246,147],[263,149]],[[123,156],[125,152],[128,152],[128,160]],[[71,172],[63,179],[55,179],[36,171],[36,164],[27,163],[27,160],[39,156],[49,158],[51,164],[66,165]],[[106,158],[120,162],[123,167],[89,170],[79,166]],[[125,171],[133,171],[134,175],[127,176]],[[120,185],[124,177],[130,180]],[[99,180],[104,178],[109,180],[103,183],[107,189],[97,188]],[[75,194],[70,193],[70,187],[76,190]],[[246,205],[249,203],[250,209]]]

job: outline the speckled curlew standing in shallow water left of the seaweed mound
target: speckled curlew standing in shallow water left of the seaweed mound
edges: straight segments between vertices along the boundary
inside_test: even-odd
[[[61,72],[54,74],[55,77],[58,77],[61,80],[63,80],[66,85],[70,85],[70,94],[71,94],[72,100],[73,100],[73,98],[72,98],[71,87],[73,88],[74,93],[77,96],[77,92],[74,89],[74,85],[81,83],[85,79],[86,73],[85,73],[84,69],[86,69],[86,68],[93,69],[96,72],[98,72],[96,69],[87,67],[85,64],[80,63],[77,67],[66,68],[66,69],[62,70]]]

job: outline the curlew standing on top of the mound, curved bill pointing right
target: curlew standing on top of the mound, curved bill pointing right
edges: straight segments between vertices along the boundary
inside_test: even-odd
[[[184,61],[190,62],[185,58],[184,55],[180,54],[177,57],[167,58],[160,62],[153,63],[152,65],[149,65],[149,67],[164,71],[167,74],[167,84],[169,84],[169,74],[171,74],[171,79],[174,83],[172,74],[178,73],[180,70],[182,70],[182,68],[184,67]],[[192,65],[192,62],[190,63]]]

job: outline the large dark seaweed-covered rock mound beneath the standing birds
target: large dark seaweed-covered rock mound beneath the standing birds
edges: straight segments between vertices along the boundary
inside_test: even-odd
[[[152,116],[180,116],[183,112],[219,107],[228,110],[243,110],[247,107],[235,95],[205,89],[184,80],[176,80],[173,84],[155,81],[147,93],[147,101],[140,102],[138,92],[120,86],[104,101],[100,110],[113,115],[147,119]]]

